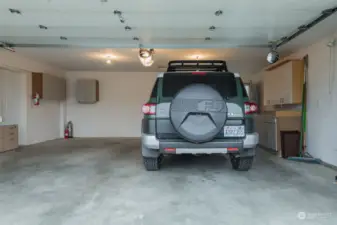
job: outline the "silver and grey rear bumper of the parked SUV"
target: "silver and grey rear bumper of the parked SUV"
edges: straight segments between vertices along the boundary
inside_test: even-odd
[[[220,153],[224,148],[255,149],[259,142],[259,134],[247,134],[244,139],[227,139],[226,141],[211,141],[202,144],[194,144],[182,140],[158,140],[155,135],[142,135],[142,145],[147,149],[164,151],[165,148],[179,148],[186,153]],[[197,150],[193,150],[197,149]],[[199,151],[198,151],[199,149]],[[219,152],[220,151],[220,152]],[[184,152],[183,152],[184,153]]]

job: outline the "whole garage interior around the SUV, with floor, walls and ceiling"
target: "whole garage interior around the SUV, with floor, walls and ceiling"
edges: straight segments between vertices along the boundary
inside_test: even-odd
[[[336,6],[2,0],[1,224],[333,224]],[[154,49],[153,64],[140,62],[141,48]],[[271,50],[280,60],[270,65]],[[175,156],[146,172],[141,107],[157,74],[172,60],[213,59],[240,73],[259,104],[253,168],[233,171],[223,156]],[[282,132],[303,131],[305,71],[302,149],[319,163],[285,159],[298,155],[282,144]],[[95,84],[83,85],[91,104],[79,100],[83,80]],[[70,121],[74,138],[65,139]]]

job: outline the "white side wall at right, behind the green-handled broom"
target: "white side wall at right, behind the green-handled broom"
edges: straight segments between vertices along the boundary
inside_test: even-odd
[[[336,36],[336,35],[335,35]],[[333,37],[302,49],[291,58],[309,56],[307,84],[307,151],[337,166],[337,56],[336,46],[327,47]],[[259,77],[261,73],[256,76]]]

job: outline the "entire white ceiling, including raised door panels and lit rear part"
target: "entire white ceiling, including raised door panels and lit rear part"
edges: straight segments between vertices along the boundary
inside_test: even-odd
[[[280,39],[322,10],[336,6],[336,0],[1,0],[0,41],[77,45],[18,49],[66,70],[142,70],[137,59],[139,44],[156,49],[156,63],[149,70],[193,54],[229,60],[235,70],[258,70],[267,49],[253,46]],[[9,8],[22,14],[11,14]],[[122,12],[124,24],[114,10]],[[215,16],[217,10],[223,14]],[[332,33],[337,30],[334,21],[336,15],[315,33],[309,31],[289,43],[284,51]],[[39,29],[39,25],[48,29]],[[125,26],[132,30],[125,31]],[[210,26],[216,29],[210,31]],[[113,65],[104,64],[106,52],[116,55]]]

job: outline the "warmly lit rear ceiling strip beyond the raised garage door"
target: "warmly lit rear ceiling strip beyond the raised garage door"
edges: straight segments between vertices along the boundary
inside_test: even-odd
[[[63,48],[20,48],[17,51],[39,61],[65,70],[100,71],[161,71],[170,60],[222,59],[230,70],[245,74],[258,71],[265,65],[266,52],[260,49],[155,49],[155,63],[144,68],[137,57],[138,49],[63,49]],[[112,56],[112,64],[105,63]],[[257,60],[252,60],[257,59]]]

